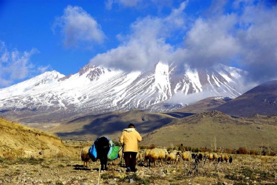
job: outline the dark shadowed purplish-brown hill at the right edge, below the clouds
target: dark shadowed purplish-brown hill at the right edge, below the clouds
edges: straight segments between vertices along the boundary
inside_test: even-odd
[[[277,114],[277,80],[258,85],[215,110],[228,115],[247,117],[253,114]]]

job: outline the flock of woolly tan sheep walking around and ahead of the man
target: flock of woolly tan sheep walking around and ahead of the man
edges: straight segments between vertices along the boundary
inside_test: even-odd
[[[84,167],[88,167],[91,159],[89,157],[89,147],[83,148],[81,152],[81,159],[84,162]],[[122,162],[122,150],[119,151],[119,157],[117,159]],[[154,148],[154,149],[144,149],[140,150],[136,155],[136,160],[141,165],[147,163],[147,166],[156,166],[156,162],[160,162],[160,166],[163,165],[163,162],[169,162],[170,164],[178,164],[180,159],[184,161],[199,162],[202,160],[215,161],[215,162],[226,162],[232,163],[233,158],[227,154],[217,154],[217,153],[192,153],[190,151],[178,151],[171,150],[168,151],[165,148]],[[113,161],[113,163],[116,161]]]

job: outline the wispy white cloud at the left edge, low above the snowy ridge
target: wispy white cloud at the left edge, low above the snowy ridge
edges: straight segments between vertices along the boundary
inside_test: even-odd
[[[13,84],[17,80],[31,77],[38,72],[44,72],[49,66],[36,67],[30,58],[38,50],[20,52],[17,49],[9,50],[5,43],[0,41],[0,87]],[[43,69],[43,70],[41,70]]]

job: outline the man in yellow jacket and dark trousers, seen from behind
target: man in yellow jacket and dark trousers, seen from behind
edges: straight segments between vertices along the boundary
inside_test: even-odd
[[[142,141],[140,133],[136,131],[133,124],[129,124],[127,129],[122,131],[120,136],[120,143],[123,145],[123,157],[126,165],[126,172],[137,169],[136,165],[136,154],[137,154],[137,141]]]

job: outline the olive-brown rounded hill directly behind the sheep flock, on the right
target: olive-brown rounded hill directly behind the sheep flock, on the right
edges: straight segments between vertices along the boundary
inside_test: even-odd
[[[232,118],[221,112],[205,112],[173,121],[144,137],[143,144],[214,148],[276,146],[277,116]]]

